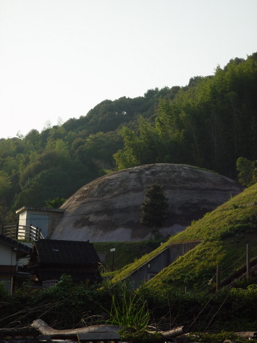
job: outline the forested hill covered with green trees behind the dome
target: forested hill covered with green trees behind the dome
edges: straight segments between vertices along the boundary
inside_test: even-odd
[[[257,53],[184,87],[105,100],[79,119],[0,140],[0,220],[134,165],[185,163],[235,179],[237,158],[257,158],[256,132]]]

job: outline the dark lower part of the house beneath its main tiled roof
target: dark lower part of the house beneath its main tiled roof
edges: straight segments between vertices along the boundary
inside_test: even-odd
[[[69,269],[40,269],[36,272],[39,281],[60,280],[62,274],[71,275],[73,282],[90,281],[90,283],[99,282],[102,277],[99,270],[83,271]]]

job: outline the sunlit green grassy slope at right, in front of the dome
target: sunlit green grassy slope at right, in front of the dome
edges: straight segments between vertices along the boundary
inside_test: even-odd
[[[256,194],[257,185],[245,189],[215,211],[188,226],[182,233],[171,237],[158,249],[123,268],[114,280],[130,274],[167,244],[204,239],[202,244],[162,270],[148,284],[160,289],[171,287],[178,290],[184,289],[184,286],[197,289],[206,286],[208,289],[215,282],[217,264],[221,265],[221,279],[245,265],[243,255],[247,243],[251,243],[251,257],[257,256],[257,206],[240,207],[242,204],[255,202]]]

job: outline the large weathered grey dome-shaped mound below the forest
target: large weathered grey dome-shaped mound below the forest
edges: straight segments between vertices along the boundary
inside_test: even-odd
[[[244,187],[225,176],[189,165],[140,165],[102,176],[66,200],[51,239],[139,241],[150,229],[140,224],[140,206],[153,183],[164,186],[169,218],[160,228],[167,237],[184,230]]]

